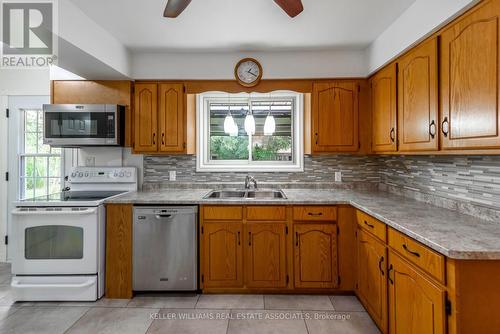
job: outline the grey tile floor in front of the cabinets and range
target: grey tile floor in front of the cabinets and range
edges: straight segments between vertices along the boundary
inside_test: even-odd
[[[19,303],[0,264],[0,333],[379,333],[353,296],[162,295]]]

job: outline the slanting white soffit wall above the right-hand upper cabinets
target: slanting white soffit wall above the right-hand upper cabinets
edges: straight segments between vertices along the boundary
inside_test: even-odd
[[[444,26],[478,0],[417,0],[366,50],[367,74]]]

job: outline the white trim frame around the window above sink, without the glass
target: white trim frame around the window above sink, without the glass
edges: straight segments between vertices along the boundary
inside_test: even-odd
[[[241,98],[270,97],[292,98],[294,101],[292,126],[293,126],[293,163],[269,161],[217,161],[210,162],[208,157],[208,103],[213,99],[228,99],[228,93],[206,92],[198,94],[196,98],[196,171],[197,172],[303,172],[304,171],[304,94],[293,91],[274,91],[270,93],[238,93],[231,94],[231,101],[236,102]]]

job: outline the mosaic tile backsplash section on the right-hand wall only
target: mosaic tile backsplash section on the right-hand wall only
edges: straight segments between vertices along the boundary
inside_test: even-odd
[[[378,160],[384,190],[500,209],[500,156],[384,156]]]

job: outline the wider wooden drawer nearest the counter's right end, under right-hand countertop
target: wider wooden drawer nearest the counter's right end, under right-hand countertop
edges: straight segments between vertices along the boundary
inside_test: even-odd
[[[392,228],[389,228],[389,246],[439,282],[445,283],[443,255]]]

